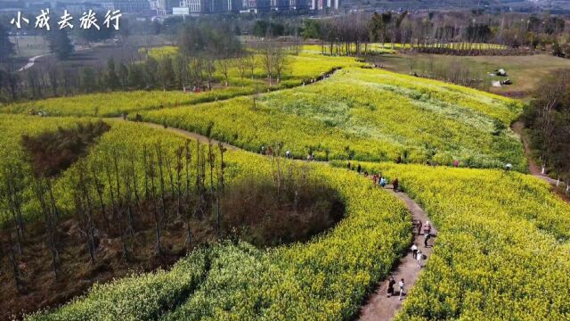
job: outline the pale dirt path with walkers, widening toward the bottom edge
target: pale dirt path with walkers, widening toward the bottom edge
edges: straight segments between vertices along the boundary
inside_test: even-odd
[[[424,224],[429,220],[428,214],[426,214],[426,212],[419,207],[418,203],[414,202],[406,193],[395,192],[394,189],[389,189],[389,191],[395,194],[397,198],[406,204],[408,209],[411,211],[411,218],[414,222],[420,221],[421,224]],[[437,234],[433,223],[432,234]],[[423,233],[414,233],[413,235],[412,243],[417,244],[419,251],[427,257],[427,259],[422,260],[422,266],[425,266],[427,260],[431,256],[433,241],[434,238],[432,237],[428,241],[428,247],[426,247],[424,246]],[[405,283],[404,290],[405,292],[409,292],[414,284],[416,284],[416,281],[418,281],[420,271],[421,268],[418,268],[418,261],[413,258],[411,251],[409,251],[406,256],[400,259],[391,274],[391,276],[394,276],[396,282],[395,295],[389,298],[387,297],[387,281],[390,278],[390,276],[388,276],[385,280],[379,283],[376,291],[371,294],[367,303],[362,306],[361,314],[358,319],[362,321],[392,320],[395,317],[396,312],[402,308],[403,303],[403,300],[399,300],[398,282],[400,282],[400,279],[403,279]]]

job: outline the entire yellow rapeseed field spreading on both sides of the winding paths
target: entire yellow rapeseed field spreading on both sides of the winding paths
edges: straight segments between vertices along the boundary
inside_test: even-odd
[[[321,59],[316,67],[310,62]],[[120,202],[115,200],[117,195],[148,196],[142,182],[149,175],[165,180],[160,183],[157,178],[156,184],[163,186],[156,187],[156,193],[172,193],[175,199],[184,188],[176,187],[173,174],[185,169],[192,184],[203,179],[199,188],[209,190],[220,184],[221,177],[227,185],[275,179],[282,166],[300,177],[310,173],[310,179],[336,191],[346,208],[336,226],[310,241],[268,248],[235,240],[213,243],[191,251],[172,268],[95,284],[62,307],[26,318],[352,319],[409,248],[411,218],[395,196],[346,170],[349,159],[416,163],[365,162],[362,166],[370,173],[400,178],[404,191],[438,226],[434,255],[396,319],[567,318],[570,206],[550,193],[547,185],[523,174],[522,145],[509,129],[523,104],[434,80],[359,68],[348,58],[343,62],[338,65],[336,57],[312,56],[301,63],[311,67],[297,71],[302,75],[297,82],[336,67],[343,69],[310,86],[263,95],[220,96],[216,102],[216,93],[222,95],[224,90],[214,91],[211,103],[178,103],[174,98],[173,104],[167,98],[172,93],[142,92],[71,97],[69,104],[61,98],[4,110],[21,114],[0,114],[0,169],[8,170],[0,172],[0,181],[6,181],[10,169],[26,173],[18,178],[22,184],[18,197],[27,222],[46,219],[45,207],[57,208],[61,215],[89,211],[91,196],[85,195],[95,198],[98,189],[102,206],[110,208]],[[110,97],[117,101],[110,102]],[[101,107],[96,104],[103,99]],[[126,110],[128,105],[133,107]],[[24,115],[29,109],[85,117]],[[198,132],[250,152],[218,152],[216,146],[188,142],[165,130],[104,119],[110,129],[88,146],[84,157],[45,182],[53,189],[39,191],[48,200],[53,192],[55,202],[41,202],[22,135],[39,136],[94,121],[89,117],[123,112],[140,112],[145,121]],[[262,146],[273,146],[273,156],[256,154]],[[208,158],[211,148],[216,156]],[[194,156],[181,165],[185,157],[177,155],[187,150]],[[285,150],[301,159],[314,152],[318,160],[332,164],[281,160],[278,156]],[[154,159],[147,160],[149,155]],[[159,155],[166,158],[164,162]],[[454,160],[466,169],[425,165],[451,165]],[[499,170],[507,162],[523,173]],[[166,174],[159,175],[159,169]],[[85,177],[92,175],[102,180],[87,184]],[[85,202],[82,189],[89,190]],[[11,193],[0,188],[4,225],[12,221],[13,201],[6,199],[7,194]],[[164,201],[161,206],[165,208]]]

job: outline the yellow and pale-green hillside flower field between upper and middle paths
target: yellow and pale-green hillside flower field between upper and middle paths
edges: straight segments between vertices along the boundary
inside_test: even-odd
[[[397,75],[344,69],[316,85],[256,97],[142,113],[251,152],[282,144],[296,158],[354,159],[501,168],[526,162],[510,123],[522,104]],[[252,122],[253,120],[253,122]]]

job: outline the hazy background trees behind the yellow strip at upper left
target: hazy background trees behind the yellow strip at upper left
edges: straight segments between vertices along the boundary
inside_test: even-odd
[[[73,45],[68,33],[55,31],[48,40],[60,62],[19,71],[23,62],[12,58],[13,44],[5,29],[5,37],[0,29],[0,39],[6,44],[0,49],[4,57],[0,64],[0,99],[10,102],[102,91],[183,90],[188,86],[211,89],[216,83],[229,86],[232,70],[237,70],[241,85],[246,78],[255,78],[258,69],[265,70],[269,86],[279,83],[288,67],[289,49],[268,34],[246,50],[233,31],[229,24],[189,21],[180,26],[178,53],[157,57],[142,54],[129,61],[110,58],[99,67],[77,67],[65,61]]]

